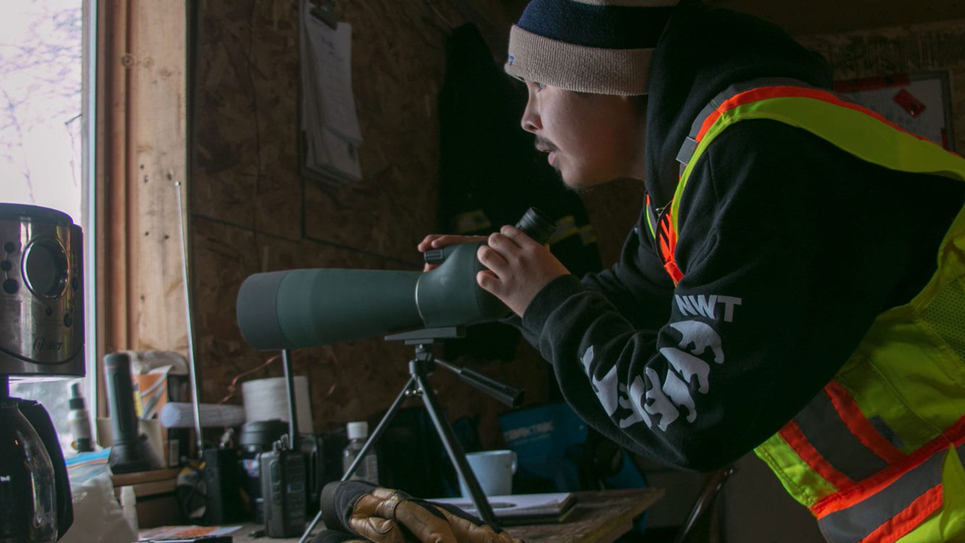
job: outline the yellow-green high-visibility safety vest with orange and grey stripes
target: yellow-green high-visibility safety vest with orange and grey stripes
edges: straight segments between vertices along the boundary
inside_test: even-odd
[[[648,228],[678,282],[677,217],[694,165],[725,129],[770,119],[896,171],[965,182],[965,158],[838,95],[791,80],[749,81],[712,100],[680,150],[671,203]],[[834,380],[755,449],[834,543],[965,541],[965,209],[912,300],[879,314]]]

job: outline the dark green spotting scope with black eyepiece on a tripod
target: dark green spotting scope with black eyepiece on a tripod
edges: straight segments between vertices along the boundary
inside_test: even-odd
[[[556,224],[530,208],[516,224],[546,243]],[[510,309],[476,283],[484,241],[427,250],[429,272],[289,270],[255,273],[241,284],[238,328],[256,349],[300,349],[406,329],[495,321]]]

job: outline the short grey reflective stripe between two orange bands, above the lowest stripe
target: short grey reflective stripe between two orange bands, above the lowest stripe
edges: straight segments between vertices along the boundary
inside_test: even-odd
[[[864,480],[888,467],[848,430],[823,389],[794,421],[824,460],[852,481]]]

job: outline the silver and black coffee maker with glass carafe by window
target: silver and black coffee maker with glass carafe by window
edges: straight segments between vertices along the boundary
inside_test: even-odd
[[[68,214],[0,203],[0,543],[55,542],[73,522],[57,431],[10,382],[84,376],[82,246]]]

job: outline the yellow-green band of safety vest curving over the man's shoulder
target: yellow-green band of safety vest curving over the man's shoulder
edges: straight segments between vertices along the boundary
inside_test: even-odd
[[[855,157],[893,170],[942,175],[965,181],[965,159],[952,155],[934,143],[895,129],[867,113],[811,98],[759,100],[723,112],[703,135],[676,186],[671,204],[675,231],[680,217],[681,195],[698,159],[724,129],[739,121],[752,119],[771,119],[806,129]]]

